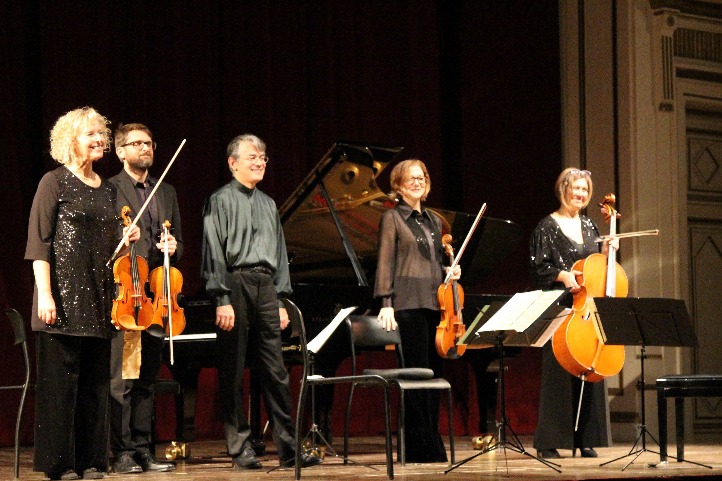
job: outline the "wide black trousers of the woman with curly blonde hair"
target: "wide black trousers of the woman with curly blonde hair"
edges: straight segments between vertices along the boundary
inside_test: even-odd
[[[38,332],[32,469],[108,471],[110,340]]]

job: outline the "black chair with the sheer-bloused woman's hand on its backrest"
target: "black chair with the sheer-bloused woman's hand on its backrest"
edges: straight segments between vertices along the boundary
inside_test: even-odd
[[[407,389],[445,389],[448,392],[448,418],[449,418],[449,444],[451,447],[451,463],[454,464],[455,452],[453,445],[453,410],[451,405],[451,384],[446,379],[436,378],[434,371],[426,368],[406,368],[404,367],[404,351],[401,346],[401,335],[399,328],[387,331],[381,327],[380,322],[375,316],[349,316],[346,319],[349,329],[349,337],[351,338],[351,363],[352,374],[356,374],[356,350],[355,346],[360,348],[382,348],[386,345],[394,345],[396,347],[396,358],[399,361],[398,369],[365,369],[363,374],[375,374],[386,379],[392,386],[399,387],[399,427],[398,439],[396,441],[399,450],[398,459],[401,466],[406,465],[406,446],[405,446],[405,430],[406,430],[406,405],[404,403],[404,392]],[[349,399],[346,406],[346,426],[344,432],[344,453],[349,443],[349,418],[351,416],[351,402],[354,395],[355,386],[364,387],[362,383],[351,385],[349,390]],[[388,406],[387,406],[388,409]],[[344,454],[346,456],[346,454]]]

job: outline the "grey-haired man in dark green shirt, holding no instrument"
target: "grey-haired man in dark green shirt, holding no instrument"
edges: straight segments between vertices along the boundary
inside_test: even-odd
[[[227,149],[233,179],[203,207],[201,277],[216,301],[221,410],[233,466],[258,469],[243,412],[243,369],[248,343],[258,356],[266,410],[281,463],[295,456],[288,372],[281,330],[288,314],[279,299],[291,294],[286,243],[276,203],[256,188],[266,172],[266,144],[245,134]],[[303,455],[303,466],[320,458]]]

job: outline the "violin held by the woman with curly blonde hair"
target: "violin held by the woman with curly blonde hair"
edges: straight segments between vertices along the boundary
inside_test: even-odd
[[[131,225],[131,208],[123,207],[121,216],[126,227]],[[145,294],[148,263],[136,255],[136,241],[130,242],[129,253],[113,264],[113,277],[118,284],[118,297],[113,299],[110,314],[118,330],[142,331],[153,322],[153,306]]]

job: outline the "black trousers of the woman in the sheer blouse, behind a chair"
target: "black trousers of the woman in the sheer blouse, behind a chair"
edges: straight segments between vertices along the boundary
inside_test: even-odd
[[[434,377],[443,377],[441,356],[436,352],[438,311],[401,309],[394,312],[399,324],[404,366],[430,368]],[[406,461],[412,463],[446,462],[446,449],[439,434],[440,391],[413,389],[405,392]]]

